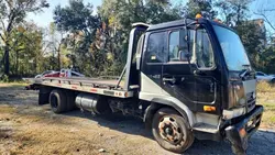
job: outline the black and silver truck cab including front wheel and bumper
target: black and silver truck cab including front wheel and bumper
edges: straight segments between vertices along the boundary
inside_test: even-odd
[[[255,71],[237,32],[204,18],[136,24],[131,34],[140,31],[138,47],[130,43],[129,53],[140,71],[139,99],[151,102],[144,121],[158,144],[180,153],[193,136],[229,140],[234,153],[244,154],[263,107],[256,106]]]

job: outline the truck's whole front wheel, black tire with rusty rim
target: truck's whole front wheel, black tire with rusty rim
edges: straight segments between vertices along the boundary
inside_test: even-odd
[[[184,153],[194,142],[194,134],[190,130],[187,117],[180,115],[177,111],[170,108],[162,108],[154,114],[152,132],[154,139],[163,148],[174,153]],[[170,137],[165,136],[169,136],[170,133],[177,133],[177,136],[172,139],[174,141],[167,140]]]

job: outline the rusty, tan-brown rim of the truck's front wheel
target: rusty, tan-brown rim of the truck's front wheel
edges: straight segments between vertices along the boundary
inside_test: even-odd
[[[173,145],[177,145],[183,142],[184,131],[180,129],[176,120],[172,117],[164,117],[160,120],[158,131],[162,139]]]

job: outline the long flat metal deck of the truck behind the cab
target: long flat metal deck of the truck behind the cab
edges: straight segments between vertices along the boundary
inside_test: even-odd
[[[130,98],[134,95],[134,90],[129,91],[123,89],[123,81],[117,86],[117,79],[44,77],[26,78],[25,80],[40,86],[50,86],[119,98]]]

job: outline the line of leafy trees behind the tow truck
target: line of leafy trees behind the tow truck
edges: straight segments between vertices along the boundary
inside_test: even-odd
[[[95,12],[92,3],[69,0],[68,5],[55,7],[54,23],[47,29],[24,21],[28,13],[48,7],[46,0],[0,1],[4,23],[0,24],[0,68],[9,76],[31,76],[73,65],[87,76],[116,76],[124,67],[132,23],[157,24],[202,13],[221,18],[238,32],[255,69],[275,73],[275,47],[250,20],[253,1],[188,0],[186,5],[175,5],[169,0],[103,0]]]

